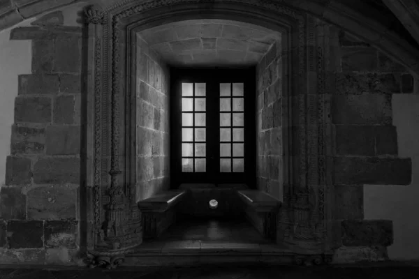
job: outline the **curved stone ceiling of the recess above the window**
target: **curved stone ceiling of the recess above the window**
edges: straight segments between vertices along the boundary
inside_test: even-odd
[[[138,33],[170,65],[251,66],[281,33],[233,20],[184,20]]]

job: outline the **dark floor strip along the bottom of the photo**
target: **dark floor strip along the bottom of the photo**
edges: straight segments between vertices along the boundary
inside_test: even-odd
[[[1,279],[264,279],[264,278],[418,278],[418,263],[377,263],[351,266],[205,266],[198,268],[119,268],[116,270],[48,267],[0,267]]]

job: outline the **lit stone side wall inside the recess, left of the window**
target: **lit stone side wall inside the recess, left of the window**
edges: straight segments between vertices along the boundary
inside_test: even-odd
[[[137,38],[136,201],[170,188],[169,70],[142,38]]]

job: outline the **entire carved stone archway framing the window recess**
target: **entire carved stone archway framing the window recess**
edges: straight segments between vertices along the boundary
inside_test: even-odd
[[[295,255],[332,255],[328,27],[276,1],[123,1],[87,8],[88,100],[87,249],[113,266],[141,243],[135,204],[135,57],[140,29],[197,18],[259,24],[282,33],[284,204],[277,242]],[[318,36],[321,34],[322,36]],[[316,39],[316,38],[321,39]],[[88,195],[89,196],[89,195]],[[89,237],[91,236],[91,237]]]

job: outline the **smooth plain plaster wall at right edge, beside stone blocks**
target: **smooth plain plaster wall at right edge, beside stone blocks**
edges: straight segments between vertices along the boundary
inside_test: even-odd
[[[365,185],[365,219],[392,220],[394,243],[390,259],[419,259],[419,91],[392,98],[393,125],[397,128],[399,157],[412,159],[408,186]]]

